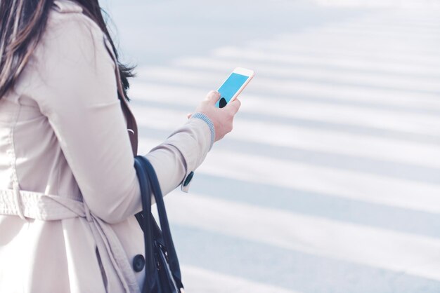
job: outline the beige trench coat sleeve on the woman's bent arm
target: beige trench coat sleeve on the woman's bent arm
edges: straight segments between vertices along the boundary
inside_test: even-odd
[[[58,14],[34,56],[41,86],[33,95],[91,212],[109,223],[139,212],[140,189],[117,98],[115,63],[101,29],[81,13]],[[202,163],[210,135],[205,122],[190,119],[147,155],[164,194]]]

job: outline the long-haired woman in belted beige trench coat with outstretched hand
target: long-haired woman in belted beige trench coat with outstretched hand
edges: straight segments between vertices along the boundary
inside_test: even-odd
[[[98,1],[0,0],[0,56],[0,292],[140,292],[131,70]],[[164,194],[232,130],[218,99],[145,155]]]

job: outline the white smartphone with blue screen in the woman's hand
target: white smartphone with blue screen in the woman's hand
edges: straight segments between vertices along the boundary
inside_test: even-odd
[[[231,75],[228,76],[226,81],[224,81],[224,83],[217,90],[221,97],[220,100],[217,101],[216,107],[223,108],[228,104],[228,102],[231,102],[238,97],[243,88],[247,86],[247,83],[250,82],[254,75],[254,71],[250,69],[241,67],[235,68]]]

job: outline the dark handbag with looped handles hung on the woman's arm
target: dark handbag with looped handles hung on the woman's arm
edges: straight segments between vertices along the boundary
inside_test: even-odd
[[[134,167],[141,186],[142,212],[136,219],[145,242],[145,281],[143,293],[182,293],[179,260],[169,230],[162,191],[153,165],[144,156],[134,158]],[[151,195],[155,197],[160,227],[151,214]]]

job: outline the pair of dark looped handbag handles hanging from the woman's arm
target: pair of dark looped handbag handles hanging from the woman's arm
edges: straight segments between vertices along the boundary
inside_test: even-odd
[[[183,284],[181,282],[182,277],[181,277],[181,271],[180,271],[180,266],[179,266],[179,259],[177,258],[176,249],[174,248],[174,243],[173,243],[173,239],[171,236],[171,231],[169,229],[167,211],[165,210],[164,198],[162,196],[162,191],[160,189],[159,181],[157,180],[156,172],[153,168],[153,165],[151,165],[150,161],[148,161],[148,159],[145,158],[144,156],[136,156],[135,162],[137,162],[137,163],[135,163],[135,165],[136,164],[141,165],[141,167],[142,167],[141,169],[143,170],[143,173],[145,174],[143,178],[148,179],[147,188],[145,188],[143,190],[145,192],[153,191],[153,196],[155,197],[156,205],[157,205],[157,212],[159,214],[160,229],[162,229],[162,238],[164,241],[164,245],[167,248],[167,254],[168,254],[168,259],[169,259],[169,268],[172,272],[172,275],[174,276],[174,280],[176,282],[176,285],[179,288],[183,288]],[[137,170],[137,168],[136,168],[136,170]],[[140,182],[141,182],[141,180],[140,180]],[[148,240],[148,241],[145,238],[145,253],[148,253],[147,255],[150,255],[153,257],[153,247],[151,247],[151,239],[153,238],[153,235],[155,234],[154,232],[160,233],[160,229],[157,227],[157,224],[155,223],[154,218],[151,215],[151,200],[150,200],[151,192],[142,193],[142,189],[141,189],[141,195],[142,195],[142,205],[143,205],[143,212],[142,212],[143,218],[144,218],[143,221],[145,221],[145,218],[146,218],[146,222],[143,222],[143,224],[146,224],[145,227],[148,227],[148,229],[145,229],[145,230],[148,230],[148,232],[149,232],[149,233],[145,233],[145,231],[144,231],[144,238],[145,238],[145,235],[150,236],[150,238],[149,238],[150,240]],[[148,242],[149,247],[146,247],[147,242]],[[148,249],[148,251],[147,251],[147,249]],[[145,255],[145,258],[147,257],[147,255]],[[148,265],[150,266],[150,264],[148,264]],[[153,262],[153,269],[155,269],[154,262]]]

